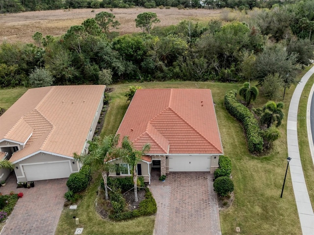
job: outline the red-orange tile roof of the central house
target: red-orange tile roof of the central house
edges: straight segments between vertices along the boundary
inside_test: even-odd
[[[209,89],[137,90],[117,134],[150,154],[222,154]]]

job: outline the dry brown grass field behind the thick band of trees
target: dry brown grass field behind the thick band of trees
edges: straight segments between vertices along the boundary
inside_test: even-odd
[[[109,9],[71,9],[53,10],[53,11],[33,11],[15,14],[0,14],[0,42],[24,42],[32,43],[31,36],[35,32],[41,32],[44,36],[60,36],[64,34],[70,26],[79,25],[88,18],[94,18],[101,11],[110,12]],[[192,21],[209,21],[210,19],[219,18],[220,10],[207,9],[145,9],[114,8],[111,12],[121,23],[117,31],[120,34],[139,32],[141,29],[135,27],[135,18],[142,12],[155,12],[160,23],[157,25],[167,26],[178,24],[183,19]]]

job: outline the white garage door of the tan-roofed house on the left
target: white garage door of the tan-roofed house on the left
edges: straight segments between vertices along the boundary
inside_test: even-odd
[[[69,162],[23,165],[27,181],[68,178]]]

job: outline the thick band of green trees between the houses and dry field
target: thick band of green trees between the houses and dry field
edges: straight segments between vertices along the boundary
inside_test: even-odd
[[[119,26],[114,15],[101,12],[70,27],[61,37],[37,32],[34,44],[3,42],[0,87],[255,79],[263,85],[263,92],[274,98],[279,89],[273,88],[288,88],[301,66],[314,58],[312,31],[293,29],[299,24],[295,19],[314,15],[311,7],[305,12],[303,4],[255,9],[246,23],[224,25],[220,21],[182,21],[153,27],[157,15],[146,12],[136,19],[143,33],[123,36],[112,31]],[[293,14],[291,9],[296,9]],[[293,15],[286,28],[283,25],[290,18],[278,14],[283,11]]]

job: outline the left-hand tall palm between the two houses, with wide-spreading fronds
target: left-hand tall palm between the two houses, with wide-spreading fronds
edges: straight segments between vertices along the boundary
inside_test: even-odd
[[[110,171],[116,171],[119,166],[116,164],[111,164],[111,152],[118,144],[120,136],[119,135],[109,135],[105,136],[102,141],[96,138],[94,141],[89,141],[89,154],[79,156],[74,154],[74,158],[80,161],[82,164],[96,164],[100,165],[102,168],[102,176],[104,179],[105,186],[105,199],[108,200],[108,188],[107,188],[107,178]]]

